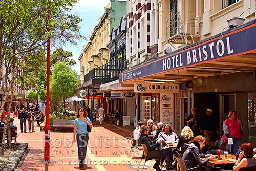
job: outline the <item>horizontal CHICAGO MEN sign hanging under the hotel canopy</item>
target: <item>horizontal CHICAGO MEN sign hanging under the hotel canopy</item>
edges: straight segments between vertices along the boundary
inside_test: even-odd
[[[136,83],[134,84],[134,92],[137,93],[179,93],[179,84],[172,82],[161,83]]]

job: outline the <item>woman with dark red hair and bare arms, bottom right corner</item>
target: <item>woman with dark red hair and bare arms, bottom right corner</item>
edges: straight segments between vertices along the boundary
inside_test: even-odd
[[[256,166],[256,157],[253,157],[253,145],[251,143],[243,143],[241,145],[241,152],[236,163],[234,163],[233,170],[238,171],[243,167]]]

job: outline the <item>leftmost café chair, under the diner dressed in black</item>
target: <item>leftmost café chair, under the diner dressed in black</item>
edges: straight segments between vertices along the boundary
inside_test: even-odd
[[[143,147],[143,154],[141,156],[141,160],[145,158],[145,162],[144,162],[142,170],[144,170],[146,161],[148,161],[148,160],[159,159],[160,160],[160,166],[161,166],[162,165],[162,162],[161,162],[162,152],[160,150],[147,151],[146,145],[145,144],[141,144],[141,145]],[[141,160],[140,160],[140,163],[141,163]],[[137,171],[139,170],[139,167],[140,167],[140,164],[138,165]],[[162,167],[160,167],[160,169],[162,171]]]

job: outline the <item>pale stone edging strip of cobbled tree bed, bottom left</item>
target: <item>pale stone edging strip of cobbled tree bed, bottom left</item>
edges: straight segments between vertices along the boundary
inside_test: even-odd
[[[3,171],[14,171],[17,168],[19,161],[22,159],[27,149],[28,143],[20,143],[14,155],[9,158],[9,162],[6,164]]]

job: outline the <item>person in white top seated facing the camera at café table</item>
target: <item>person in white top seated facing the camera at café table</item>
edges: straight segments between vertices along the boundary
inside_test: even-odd
[[[170,141],[170,142],[178,143],[179,138],[175,132],[172,132],[172,128],[168,124],[163,126],[163,132],[159,133],[158,137],[163,138],[162,162],[164,162],[165,158],[167,157],[166,169],[170,170],[174,168],[174,166],[172,166],[172,162],[174,161],[173,151],[172,151],[172,148],[167,146],[166,142]]]

